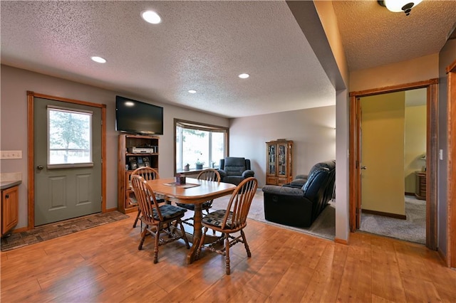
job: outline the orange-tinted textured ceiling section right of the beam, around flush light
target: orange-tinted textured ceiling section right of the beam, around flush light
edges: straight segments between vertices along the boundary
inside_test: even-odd
[[[456,1],[425,0],[410,16],[376,0],[333,1],[333,7],[351,71],[438,53],[456,23]]]

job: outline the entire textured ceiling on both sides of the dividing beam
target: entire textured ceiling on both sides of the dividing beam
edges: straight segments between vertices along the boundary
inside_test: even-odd
[[[408,17],[377,1],[333,6],[350,70],[437,53],[456,21],[456,1]],[[162,23],[142,21],[145,9]],[[224,117],[335,102],[285,1],[1,1],[0,12],[2,64]]]

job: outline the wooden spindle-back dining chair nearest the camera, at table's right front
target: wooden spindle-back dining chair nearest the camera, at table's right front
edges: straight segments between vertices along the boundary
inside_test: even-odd
[[[249,213],[252,199],[257,192],[257,187],[258,181],[254,177],[244,179],[239,183],[236,189],[234,189],[226,210],[213,211],[202,218],[204,229],[196,257],[199,257],[202,248],[224,255],[227,275],[230,274],[229,248],[232,245],[244,243],[247,257],[252,256],[244,234],[244,228],[247,226],[247,214]],[[209,228],[222,233],[222,237],[213,243],[204,244],[204,239],[206,238],[206,233]],[[239,232],[239,235],[232,235],[237,232]],[[222,245],[223,242],[224,245],[220,248],[220,245]]]

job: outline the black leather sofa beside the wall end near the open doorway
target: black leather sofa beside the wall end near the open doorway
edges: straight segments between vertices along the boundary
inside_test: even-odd
[[[333,197],[336,161],[315,164],[309,175],[296,176],[283,186],[266,185],[264,218],[296,227],[309,227]]]

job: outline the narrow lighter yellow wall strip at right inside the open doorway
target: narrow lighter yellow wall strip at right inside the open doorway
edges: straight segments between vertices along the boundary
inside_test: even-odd
[[[425,166],[420,156],[426,152],[426,105],[405,107],[404,175],[405,192],[415,193],[415,171]]]

